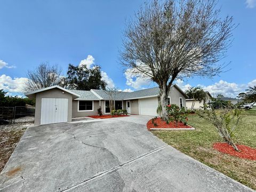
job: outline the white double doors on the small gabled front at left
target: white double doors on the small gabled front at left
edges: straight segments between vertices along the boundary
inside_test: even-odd
[[[68,99],[42,98],[41,124],[68,121]]]

